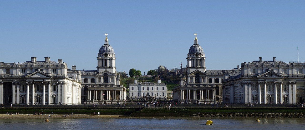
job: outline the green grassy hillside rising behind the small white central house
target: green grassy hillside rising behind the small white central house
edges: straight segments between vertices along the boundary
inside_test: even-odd
[[[127,84],[128,80],[131,78],[138,80],[138,82],[154,82],[154,77],[127,77],[127,78],[121,78],[121,85],[124,85],[127,88],[127,91],[129,91],[129,84]],[[132,82],[133,83],[133,82]],[[162,83],[166,83],[167,91],[172,91],[174,87],[179,86],[179,84],[175,84],[169,81],[162,80]]]

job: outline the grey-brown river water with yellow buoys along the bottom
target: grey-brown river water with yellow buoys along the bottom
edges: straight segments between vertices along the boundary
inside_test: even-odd
[[[0,129],[305,129],[305,118],[83,118],[0,119]]]

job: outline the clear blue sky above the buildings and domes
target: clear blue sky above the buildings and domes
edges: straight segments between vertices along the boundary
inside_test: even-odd
[[[186,65],[194,33],[207,69],[304,62],[305,1],[1,1],[0,61],[35,56],[96,70],[108,33],[117,71]],[[304,58],[304,59],[303,59]]]

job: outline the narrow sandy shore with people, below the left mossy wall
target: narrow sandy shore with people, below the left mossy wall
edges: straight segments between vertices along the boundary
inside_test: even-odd
[[[7,115],[7,114],[0,114],[0,119],[8,119],[8,118],[49,118],[49,115],[32,115],[30,116],[28,114],[19,114],[19,115]],[[50,115],[50,118],[118,118],[119,115],[86,115],[86,114],[73,114],[73,116],[69,115],[66,117],[63,117],[63,114],[61,115]]]

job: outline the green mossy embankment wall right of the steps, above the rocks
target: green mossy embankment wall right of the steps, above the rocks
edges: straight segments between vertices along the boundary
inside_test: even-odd
[[[171,108],[182,115],[200,113],[294,113],[305,112],[304,108]]]

